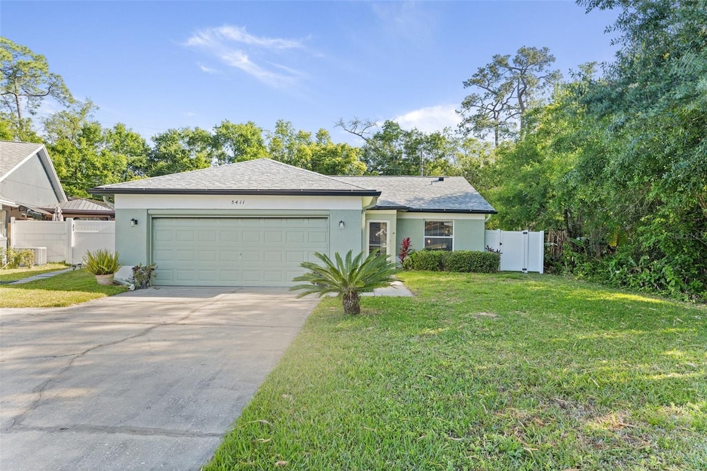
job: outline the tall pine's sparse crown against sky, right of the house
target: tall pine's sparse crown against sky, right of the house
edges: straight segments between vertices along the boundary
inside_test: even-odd
[[[521,47],[513,59],[510,54],[494,55],[490,64],[464,81],[464,88],[479,93],[467,95],[457,110],[462,115],[461,132],[480,139],[493,132],[493,143],[498,146],[502,139],[516,135],[518,123],[522,136],[525,112],[561,79],[559,71],[550,70],[554,62],[547,47]]]

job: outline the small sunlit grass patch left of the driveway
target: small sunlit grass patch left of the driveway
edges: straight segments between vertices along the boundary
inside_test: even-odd
[[[86,269],[24,284],[0,285],[0,308],[49,308],[85,303],[126,291],[125,286],[101,286]]]

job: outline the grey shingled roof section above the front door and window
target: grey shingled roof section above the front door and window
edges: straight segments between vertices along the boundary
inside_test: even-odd
[[[464,177],[337,177],[380,191],[377,209],[496,214]]]

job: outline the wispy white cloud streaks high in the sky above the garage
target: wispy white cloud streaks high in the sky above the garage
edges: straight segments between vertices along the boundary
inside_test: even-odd
[[[247,33],[244,27],[224,25],[218,28],[199,30],[184,43],[216,57],[221,63],[240,69],[269,86],[281,88],[291,85],[304,76],[302,72],[290,66],[271,60],[259,59],[257,64],[252,57],[269,57],[285,50],[306,50],[299,40],[277,37],[259,37]],[[216,69],[202,66],[201,70],[213,74]]]

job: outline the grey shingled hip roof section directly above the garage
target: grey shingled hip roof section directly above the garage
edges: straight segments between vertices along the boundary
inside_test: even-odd
[[[269,158],[103,185],[88,191],[95,194],[380,194],[376,190]]]

